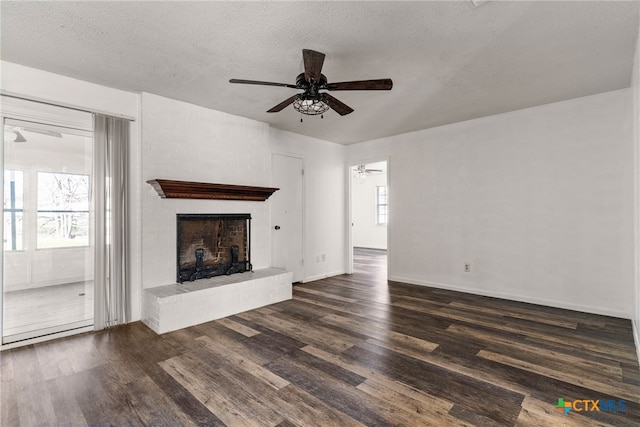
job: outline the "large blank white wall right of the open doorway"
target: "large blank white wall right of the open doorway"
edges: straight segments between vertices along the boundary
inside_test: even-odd
[[[389,157],[390,279],[632,317],[631,101],[626,89],[349,146],[349,159]]]

